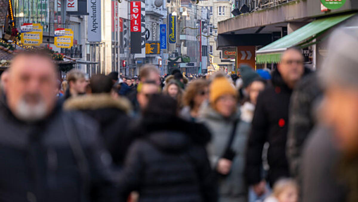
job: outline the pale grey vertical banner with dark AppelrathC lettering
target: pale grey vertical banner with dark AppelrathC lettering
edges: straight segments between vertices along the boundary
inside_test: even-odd
[[[101,0],[90,0],[87,6],[87,41],[101,42]]]

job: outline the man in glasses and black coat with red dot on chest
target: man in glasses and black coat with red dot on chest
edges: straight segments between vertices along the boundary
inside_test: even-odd
[[[281,63],[272,72],[272,85],[258,95],[252,130],[248,143],[246,176],[258,196],[264,194],[265,177],[262,176],[262,149],[269,142],[267,159],[270,166],[267,179],[271,185],[281,177],[289,177],[286,159],[288,112],[292,89],[301,77],[309,73],[304,68],[300,49],[289,48],[281,56]]]

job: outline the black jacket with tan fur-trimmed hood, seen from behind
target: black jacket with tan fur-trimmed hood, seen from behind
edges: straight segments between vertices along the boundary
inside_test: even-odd
[[[114,99],[108,93],[88,94],[68,99],[63,108],[82,111],[95,119],[100,125],[100,134],[113,162],[123,164],[130,141],[127,138],[130,123],[127,113],[131,109],[128,100]]]

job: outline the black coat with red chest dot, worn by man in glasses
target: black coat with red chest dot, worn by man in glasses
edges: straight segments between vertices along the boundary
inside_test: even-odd
[[[305,69],[305,74],[310,72]],[[281,177],[289,177],[286,159],[286,139],[289,123],[289,104],[292,89],[284,83],[278,70],[272,73],[272,85],[258,95],[248,141],[246,177],[248,184],[262,180],[262,148],[270,143],[267,160],[270,165],[268,180],[271,186]]]

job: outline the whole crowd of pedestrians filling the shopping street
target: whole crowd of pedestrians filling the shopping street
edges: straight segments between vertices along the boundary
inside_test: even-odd
[[[18,53],[1,75],[0,201],[358,201],[355,31],[316,72],[292,47],[240,78],[144,65],[61,82],[46,53]]]

